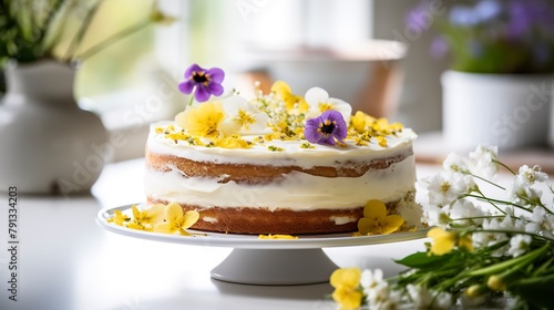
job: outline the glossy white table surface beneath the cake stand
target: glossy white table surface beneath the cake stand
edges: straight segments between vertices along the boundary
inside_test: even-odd
[[[419,177],[434,166],[418,166]],[[19,195],[18,301],[9,300],[8,196],[0,194],[0,309],[336,309],[328,283],[264,287],[213,280],[229,248],[185,246],[109,232],[96,223],[103,207],[143,202],[143,159],[107,165],[92,195]],[[7,190],[7,189],[2,189]],[[424,239],[327,248],[340,267],[381,268],[424,250]]]

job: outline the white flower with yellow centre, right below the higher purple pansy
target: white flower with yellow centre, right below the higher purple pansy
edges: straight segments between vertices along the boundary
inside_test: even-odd
[[[219,123],[224,136],[232,134],[263,134],[268,116],[242,96],[229,96],[223,102],[226,117]]]

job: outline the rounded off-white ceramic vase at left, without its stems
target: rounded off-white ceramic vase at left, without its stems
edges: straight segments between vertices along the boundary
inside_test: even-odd
[[[42,60],[9,63],[0,104],[0,192],[86,193],[99,177],[106,131],[99,116],[79,108],[75,71]]]

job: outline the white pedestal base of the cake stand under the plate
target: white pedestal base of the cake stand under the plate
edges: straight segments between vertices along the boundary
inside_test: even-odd
[[[319,248],[234,249],[212,270],[212,278],[242,285],[314,285],[328,282],[337,268]]]

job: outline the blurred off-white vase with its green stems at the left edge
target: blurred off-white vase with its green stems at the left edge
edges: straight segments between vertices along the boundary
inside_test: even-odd
[[[88,192],[100,176],[110,147],[95,114],[80,110],[73,94],[75,68],[109,44],[154,22],[167,21],[158,10],[148,19],[82,51],[101,1],[0,0],[0,68],[7,92],[0,103],[0,190],[69,194]],[[92,3],[92,4],[91,4]],[[84,12],[72,27],[72,12]]]

